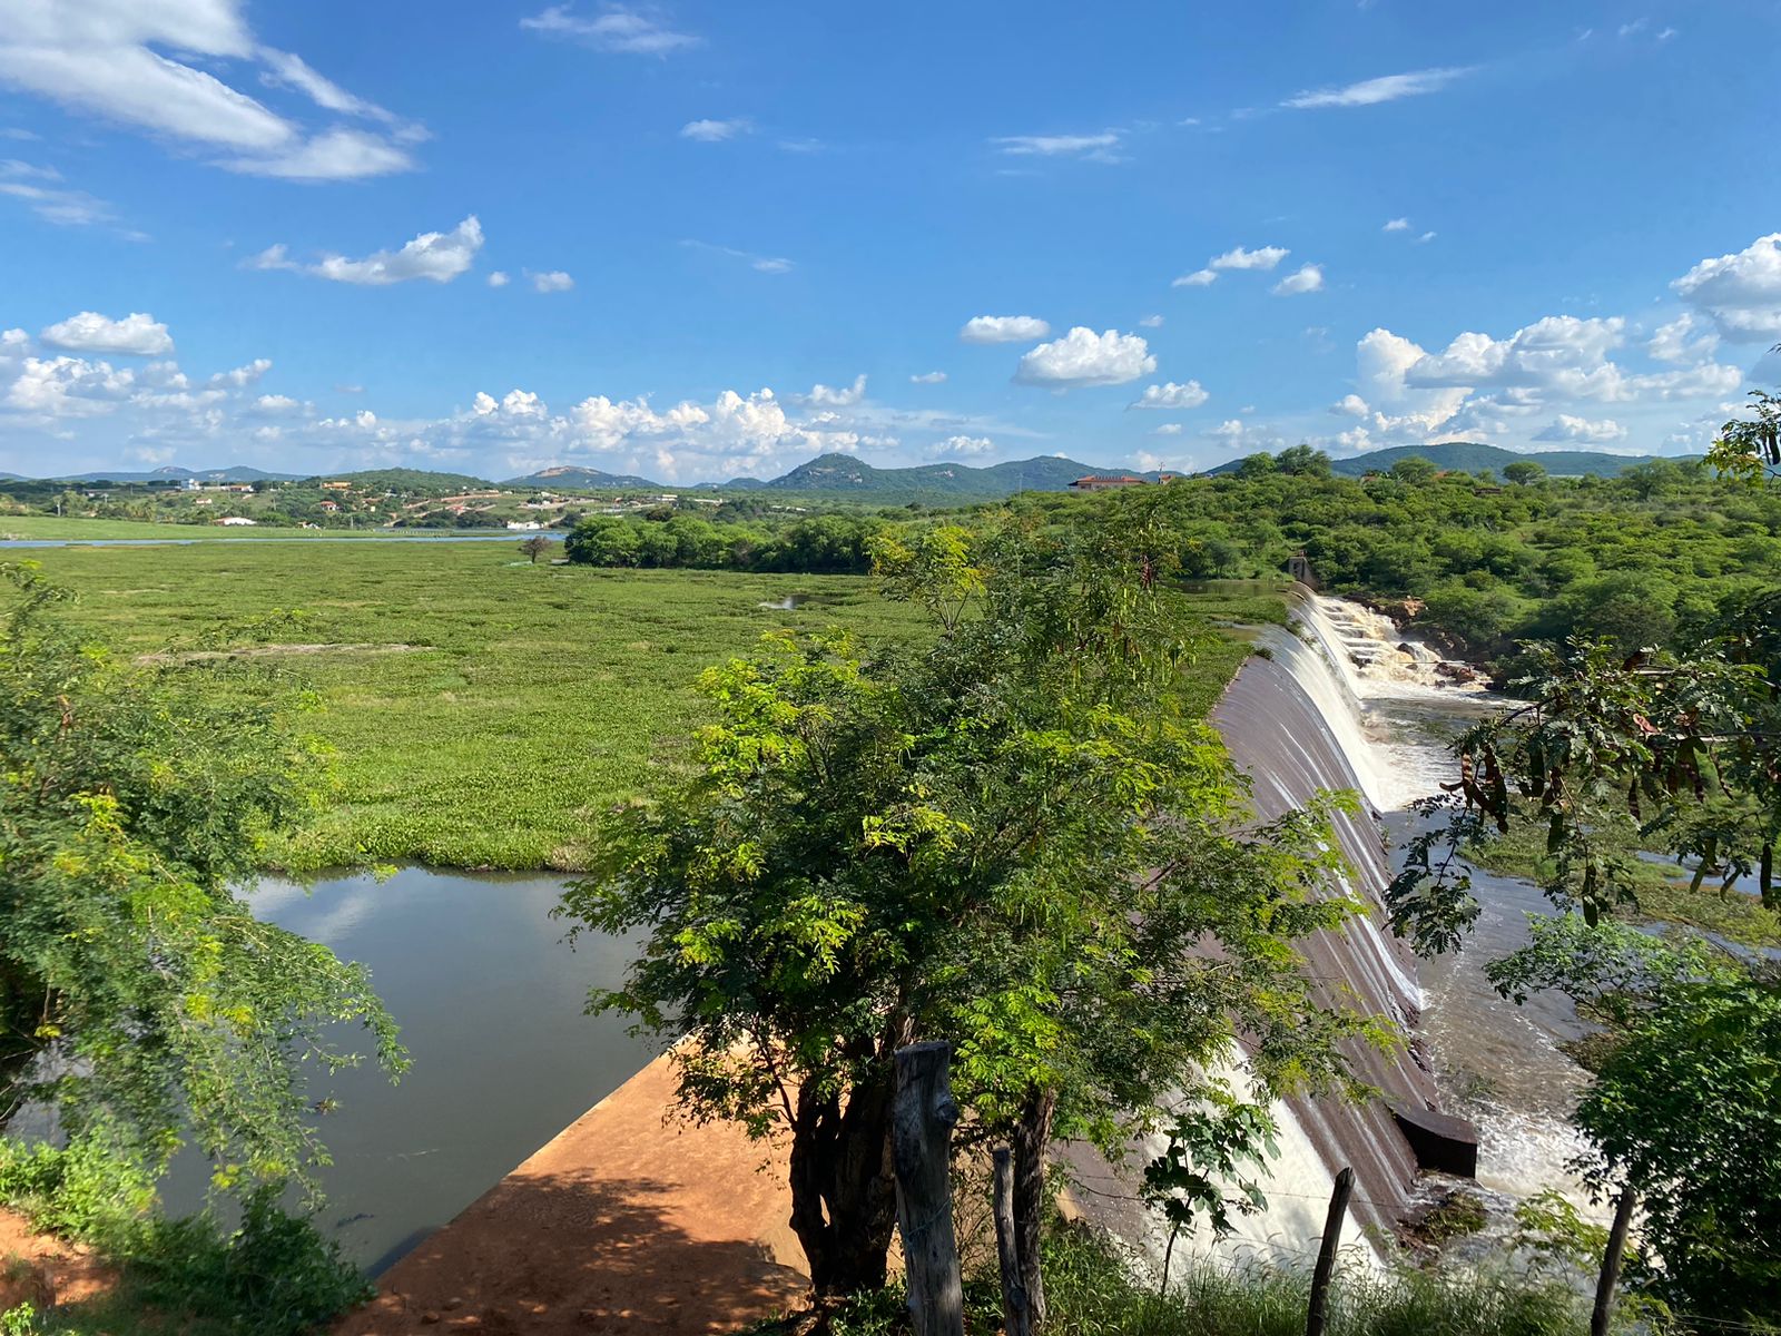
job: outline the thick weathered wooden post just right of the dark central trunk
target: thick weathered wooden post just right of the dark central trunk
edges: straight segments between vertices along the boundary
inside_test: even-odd
[[[965,1295],[953,1234],[958,1104],[953,1101],[951,1053],[951,1044],[912,1044],[896,1053],[890,1154],[915,1336],[965,1336]]]

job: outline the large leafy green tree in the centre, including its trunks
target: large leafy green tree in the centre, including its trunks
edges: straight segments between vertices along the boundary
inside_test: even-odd
[[[976,1128],[1013,1140],[1042,1306],[1053,1133],[1118,1149],[1163,1126],[1238,1033],[1266,1090],[1341,1087],[1338,1040],[1380,1033],[1297,971],[1293,942],[1357,910],[1327,819],[1250,823],[1183,716],[1167,538],[960,550],[942,531],[890,552],[933,634],[878,659],[780,634],[711,670],[698,773],[613,816],[565,898],[577,930],[645,933],[591,1001],[693,1040],[673,1049],[684,1110],[789,1135],[823,1295],[883,1283],[903,1044],[951,1040]]]

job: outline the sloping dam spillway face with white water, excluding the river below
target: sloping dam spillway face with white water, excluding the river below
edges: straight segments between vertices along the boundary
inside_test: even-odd
[[[1387,814],[1435,789],[1444,754],[1425,739],[1393,736],[1371,709],[1380,697],[1409,698],[1441,714],[1478,714],[1491,707],[1441,656],[1405,639],[1387,620],[1359,604],[1295,590],[1291,625],[1254,632],[1254,654],[1211,713],[1232,761],[1252,786],[1261,818],[1304,807],[1318,793],[1350,791],[1359,803],[1334,818],[1336,843],[1348,864],[1341,889],[1368,907],[1341,933],[1302,944],[1320,1003],[1384,1015],[1403,1042],[1378,1049],[1350,1042],[1354,1074],[1377,1090],[1368,1103],[1341,1096],[1295,1096],[1273,1103],[1279,1158],[1261,1179],[1266,1210],[1234,1217],[1236,1234],[1222,1243],[1190,1238],[1204,1256],[1241,1261],[1266,1256],[1293,1265],[1309,1258],[1323,1231],[1334,1176],[1355,1170],[1345,1247],[1362,1252],[1375,1231],[1391,1233],[1411,1215],[1418,1192],[1418,1156],[1395,1110],[1441,1110],[1441,1088],[1419,1035],[1425,990],[1412,951],[1386,925],[1384,891],[1393,875]],[[1240,1078],[1240,1072],[1225,1072]],[[1240,1087],[1241,1088],[1241,1087]],[[1158,1147],[1159,1149],[1159,1147]],[[1165,1238],[1154,1220],[1127,1211],[1099,1211],[1152,1261]]]

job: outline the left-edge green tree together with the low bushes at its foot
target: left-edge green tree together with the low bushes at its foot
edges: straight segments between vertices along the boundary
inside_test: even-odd
[[[406,1065],[367,973],[237,894],[315,793],[306,700],[235,661],[119,661],[36,570],[0,581],[0,1201],[96,1247],[132,1324],[306,1331],[363,1284],[280,1208],[322,1156],[305,1078],[354,1040]],[[239,1229],[155,1213],[182,1145]]]

